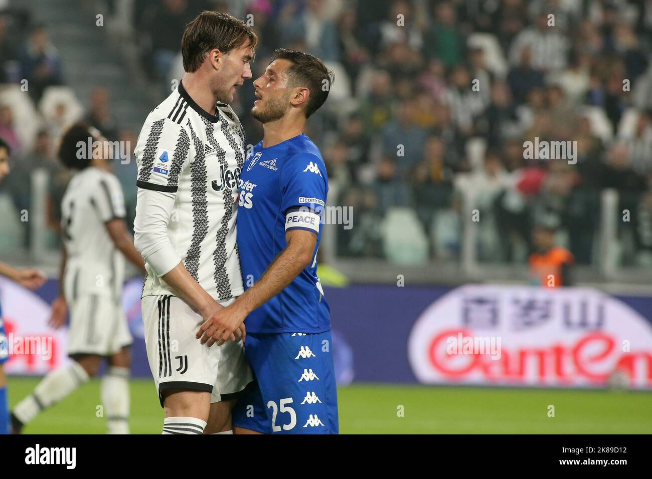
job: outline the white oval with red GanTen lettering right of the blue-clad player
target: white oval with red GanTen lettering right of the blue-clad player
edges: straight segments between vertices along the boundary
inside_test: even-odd
[[[451,353],[462,339],[491,340],[495,351]],[[408,355],[422,383],[604,386],[618,372],[652,388],[651,323],[587,288],[460,287],[417,319]]]

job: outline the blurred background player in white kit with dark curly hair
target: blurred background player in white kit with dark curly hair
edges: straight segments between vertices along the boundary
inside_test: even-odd
[[[98,142],[92,151],[87,151],[89,141]],[[140,270],[145,265],[127,231],[123,191],[110,172],[104,145],[106,138],[85,123],[74,124],[61,139],[59,159],[77,171],[61,205],[64,248],[59,297],[53,302],[50,325],[59,328],[65,323],[69,305],[68,356],[73,361],[48,373],[16,405],[11,418],[14,433],[95,376],[104,358],[109,368],[102,377],[101,396],[108,432],[129,433],[133,340],[121,304],[125,257]]]

